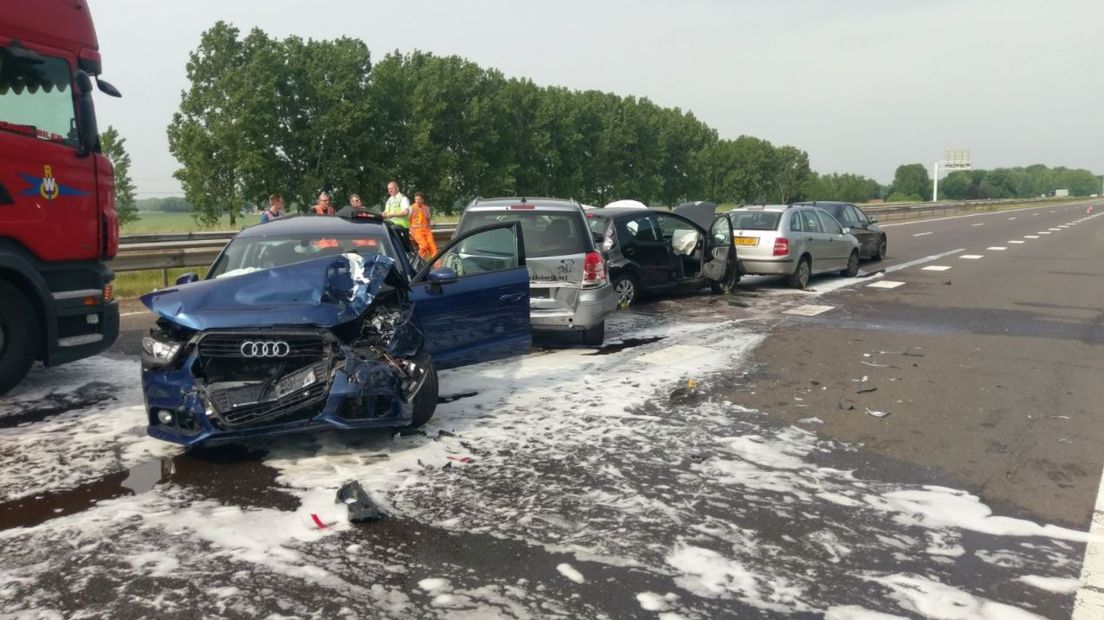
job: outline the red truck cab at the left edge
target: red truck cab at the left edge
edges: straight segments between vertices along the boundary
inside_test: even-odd
[[[99,44],[84,0],[0,4],[0,394],[118,336],[119,225],[92,101]]]

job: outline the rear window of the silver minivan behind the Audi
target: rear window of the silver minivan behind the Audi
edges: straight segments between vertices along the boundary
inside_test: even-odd
[[[526,256],[563,256],[586,254],[591,249],[590,232],[582,213],[561,211],[471,211],[464,214],[459,232],[500,222],[520,222],[526,240]]]

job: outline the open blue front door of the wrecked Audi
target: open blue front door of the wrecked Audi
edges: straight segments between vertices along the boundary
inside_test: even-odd
[[[414,313],[438,368],[524,355],[532,346],[521,225],[453,239],[411,282]]]

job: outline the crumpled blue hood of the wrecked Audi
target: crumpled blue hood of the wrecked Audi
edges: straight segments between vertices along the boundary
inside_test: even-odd
[[[153,291],[141,302],[193,330],[332,328],[368,309],[395,260],[343,254]]]

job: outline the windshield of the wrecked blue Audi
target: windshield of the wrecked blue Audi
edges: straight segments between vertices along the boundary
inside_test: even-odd
[[[382,229],[365,229],[357,234],[237,237],[230,242],[208,277],[238,276],[348,252],[382,254],[394,258]]]

